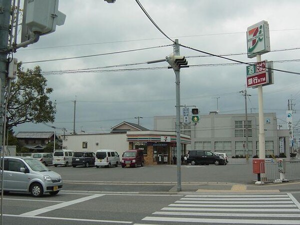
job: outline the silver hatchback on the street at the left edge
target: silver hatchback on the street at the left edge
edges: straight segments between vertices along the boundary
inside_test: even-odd
[[[32,157],[4,157],[4,192],[30,192],[33,197],[57,194],[62,188],[61,176]]]

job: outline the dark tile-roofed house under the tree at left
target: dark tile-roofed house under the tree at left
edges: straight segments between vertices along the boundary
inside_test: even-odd
[[[21,131],[18,132],[15,136],[19,141],[20,145],[29,148],[31,152],[43,151],[46,144],[54,140],[54,132],[51,131]]]

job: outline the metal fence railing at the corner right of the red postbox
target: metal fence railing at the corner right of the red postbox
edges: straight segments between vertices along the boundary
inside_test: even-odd
[[[300,160],[278,159],[278,161],[265,161],[260,163],[261,181],[287,182],[300,179]]]

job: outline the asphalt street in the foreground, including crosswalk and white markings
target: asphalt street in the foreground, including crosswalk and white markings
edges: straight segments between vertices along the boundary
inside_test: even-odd
[[[3,224],[300,224],[300,193],[8,194]]]

